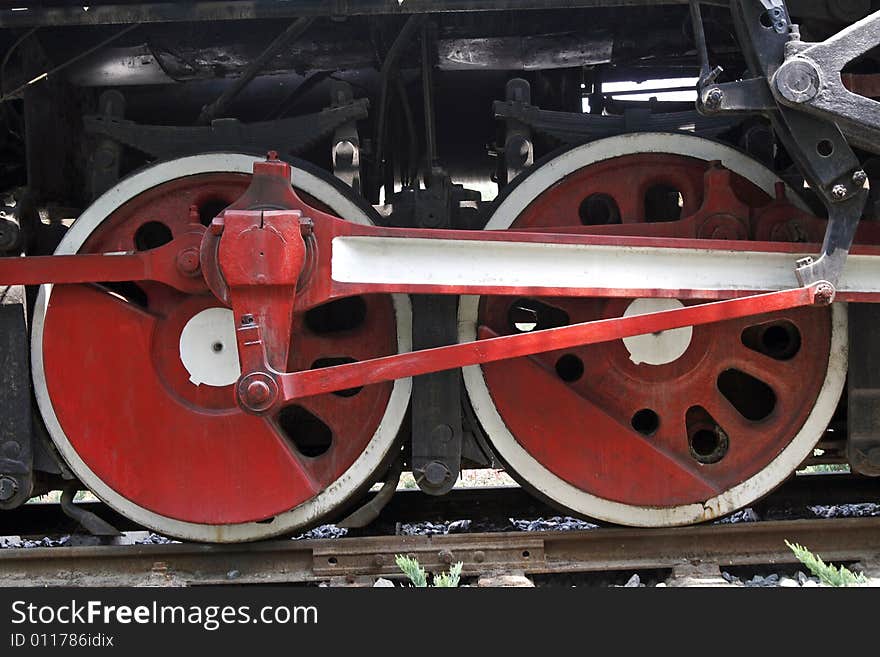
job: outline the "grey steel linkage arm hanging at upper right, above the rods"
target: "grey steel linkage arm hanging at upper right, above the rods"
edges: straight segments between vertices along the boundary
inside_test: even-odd
[[[715,76],[709,76],[702,81],[698,105],[706,113],[754,112],[770,120],[828,210],[822,251],[817,259],[798,262],[798,280],[804,285],[819,280],[837,284],[868,196],[867,175],[838,122],[851,129],[847,134],[859,145],[880,128],[877,103],[850,98],[854,94],[843,87],[840,71],[877,44],[878,14],[810,45],[800,41],[783,0],[734,0],[731,13],[755,77],[715,84]],[[876,150],[876,137],[871,144]]]

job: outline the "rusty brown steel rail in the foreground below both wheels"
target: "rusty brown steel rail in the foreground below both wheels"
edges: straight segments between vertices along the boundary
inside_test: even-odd
[[[794,541],[829,561],[880,553],[880,518],[793,520],[667,529],[391,536],[252,545],[140,545],[0,551],[0,585],[294,583],[398,575],[394,555],[429,571],[462,561],[466,575],[794,563]]]

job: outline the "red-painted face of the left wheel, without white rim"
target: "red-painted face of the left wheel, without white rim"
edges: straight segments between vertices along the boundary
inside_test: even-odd
[[[246,175],[205,174],[160,185],[108,217],[81,253],[132,251],[138,229],[150,221],[161,221],[177,243],[192,226],[193,206],[210,223],[249,182]],[[147,253],[153,252],[136,257]],[[147,280],[112,286],[112,294],[93,285],[56,285],[42,345],[49,397],[77,454],[135,504],[188,522],[270,518],[326,489],[368,448],[392,384],[302,400],[297,413],[280,420],[243,412],[235,385],[196,386],[181,362],[184,325],[206,308],[224,306],[198,280],[199,289],[187,293]],[[296,372],[337,357],[396,353],[390,298],[362,301],[363,321],[342,331],[324,330],[305,311],[295,312],[293,349],[284,362],[272,362]],[[331,443],[323,453],[304,455],[302,446],[321,437],[321,426]]]

